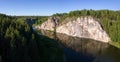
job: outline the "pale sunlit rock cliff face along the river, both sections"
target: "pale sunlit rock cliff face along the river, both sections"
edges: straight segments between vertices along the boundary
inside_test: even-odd
[[[39,28],[45,30],[54,30],[55,28],[57,33],[64,33],[70,36],[89,38],[103,42],[110,41],[109,36],[102,29],[98,20],[92,17],[69,18],[67,20],[72,21],[68,21],[67,23],[55,27],[55,19],[48,19],[48,21],[39,26]]]

